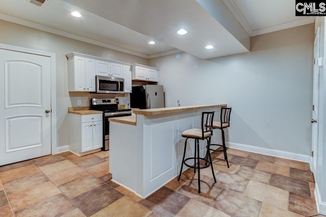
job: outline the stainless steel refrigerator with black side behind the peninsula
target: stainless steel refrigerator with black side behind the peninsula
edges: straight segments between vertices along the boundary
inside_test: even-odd
[[[163,86],[143,85],[132,87],[130,107],[140,109],[164,107]]]

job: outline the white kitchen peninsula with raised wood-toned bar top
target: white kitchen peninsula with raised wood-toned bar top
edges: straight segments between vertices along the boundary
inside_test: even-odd
[[[142,198],[154,193],[180,171],[185,141],[181,132],[201,128],[202,112],[215,111],[214,121],[219,121],[222,106],[226,104],[152,108],[135,110],[135,116],[110,118],[112,181]],[[216,134],[212,143],[220,139]],[[200,142],[204,156],[205,144]],[[193,153],[194,145],[188,146],[186,155]]]

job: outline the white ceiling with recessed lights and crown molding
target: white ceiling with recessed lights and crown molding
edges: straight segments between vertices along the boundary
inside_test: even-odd
[[[295,0],[1,0],[0,19],[144,58],[185,51],[211,59],[249,52],[251,36],[314,22],[295,17],[294,6]],[[181,28],[188,33],[178,35]]]

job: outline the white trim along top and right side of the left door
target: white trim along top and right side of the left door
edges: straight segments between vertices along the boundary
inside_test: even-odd
[[[57,154],[57,91],[56,91],[56,53],[35,50],[26,47],[19,47],[0,43],[0,49],[32,53],[49,57],[51,60],[51,154]]]

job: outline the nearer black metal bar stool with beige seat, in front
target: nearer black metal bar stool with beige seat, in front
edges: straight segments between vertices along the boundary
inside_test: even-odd
[[[195,171],[194,171],[195,173],[196,173],[196,169],[198,169],[198,193],[200,193],[200,169],[204,169],[204,168],[207,168],[210,166],[212,169],[214,181],[216,182],[216,178],[215,178],[214,170],[213,170],[212,159],[210,157],[210,152],[207,151],[206,158],[202,158],[199,156],[199,151],[200,151],[199,150],[199,140],[207,140],[206,147],[209,147],[210,137],[212,135],[212,130],[213,130],[213,128],[212,128],[213,117],[214,117],[214,112],[203,112],[202,113],[202,122],[201,122],[202,128],[201,129],[187,129],[181,133],[182,137],[186,138],[186,140],[184,142],[184,152],[183,152],[181,170],[180,170],[178,181],[180,180],[180,177],[181,177],[183,164],[189,168],[195,169]],[[188,157],[188,158],[184,159],[188,139],[195,139],[195,155],[194,155],[194,157]],[[196,156],[196,154],[197,154],[197,156]],[[209,159],[207,157],[209,157]],[[193,166],[188,165],[186,163],[186,161],[192,160],[192,159],[194,160],[194,165]],[[200,166],[200,160],[205,161],[205,166]],[[197,161],[197,166],[196,166],[196,161]]]

